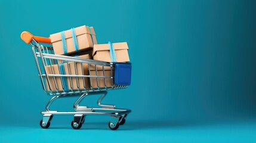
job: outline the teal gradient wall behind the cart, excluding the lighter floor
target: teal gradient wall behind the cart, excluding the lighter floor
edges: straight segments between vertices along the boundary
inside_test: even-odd
[[[215,120],[256,114],[255,2],[1,1],[0,5],[0,110],[8,115],[1,122],[39,120],[39,111],[50,98],[41,89],[30,45],[21,41],[20,33],[49,36],[83,24],[95,27],[99,43],[128,42],[132,85],[110,92],[106,102],[131,108],[130,120]],[[21,112],[25,110],[33,117],[27,119]]]

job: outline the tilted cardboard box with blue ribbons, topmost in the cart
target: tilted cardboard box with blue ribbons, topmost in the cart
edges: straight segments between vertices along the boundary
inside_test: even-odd
[[[93,27],[88,26],[80,26],[75,29],[52,34],[50,39],[53,44],[54,54],[56,55],[69,55],[91,50],[93,44],[97,43]]]

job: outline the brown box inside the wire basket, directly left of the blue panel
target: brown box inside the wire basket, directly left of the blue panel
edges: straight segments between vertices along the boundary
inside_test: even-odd
[[[103,72],[103,68],[102,66],[97,66],[97,74],[95,71],[95,66],[91,65],[90,66],[90,76],[105,76],[105,77],[115,77],[115,69],[111,70],[110,68],[104,68],[104,72]],[[97,82],[98,81],[98,82]],[[97,88],[111,88],[112,84],[113,87],[115,87],[115,80],[110,79],[110,78],[97,78],[96,77],[91,77],[90,78],[90,84],[92,86],[92,88],[97,89]]]

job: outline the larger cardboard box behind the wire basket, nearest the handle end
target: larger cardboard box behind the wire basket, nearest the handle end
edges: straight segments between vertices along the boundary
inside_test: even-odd
[[[90,58],[89,55],[81,55],[79,56],[80,58]],[[69,65],[69,68],[67,67]],[[69,62],[63,63],[64,67],[64,73],[69,74],[69,75],[89,75],[88,71],[88,64],[81,64],[81,63],[76,63],[76,69],[75,69],[75,63],[74,62]],[[83,67],[83,69],[82,69]],[[45,66],[45,70],[47,71],[48,74],[60,74],[60,66],[58,64],[54,64],[53,66]],[[70,72],[69,72],[70,71]],[[63,79],[66,79],[64,81]],[[83,90],[83,89],[90,89],[90,82],[89,82],[88,77],[78,77],[78,80],[76,80],[76,77],[62,77],[62,82],[66,82],[67,89],[73,91],[78,91],[78,89]],[[61,84],[61,77],[55,77],[55,83],[54,83],[54,77],[49,77],[49,82],[51,85],[51,90],[54,92],[56,89],[58,91],[63,91],[63,86]],[[46,79],[46,85],[47,85],[47,91],[50,91],[49,84]],[[56,88],[57,86],[57,88]]]

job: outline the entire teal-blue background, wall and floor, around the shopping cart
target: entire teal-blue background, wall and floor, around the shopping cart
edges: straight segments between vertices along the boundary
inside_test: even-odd
[[[67,142],[75,135],[85,141],[102,141],[95,138],[100,135],[124,142],[255,142],[255,6],[242,0],[0,1],[0,142],[46,136]],[[112,132],[109,117],[88,116],[81,130],[72,130],[72,116],[55,116],[51,129],[40,129],[51,97],[20,33],[48,37],[84,24],[94,26],[98,43],[128,42],[132,85],[104,100],[131,108],[127,125]],[[76,98],[53,108],[72,110]]]

